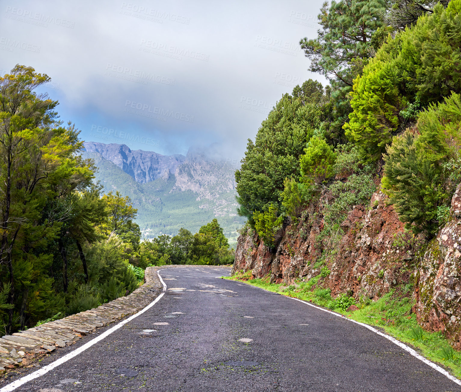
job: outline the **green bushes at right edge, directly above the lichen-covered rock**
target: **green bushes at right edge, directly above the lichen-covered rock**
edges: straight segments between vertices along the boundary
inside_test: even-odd
[[[407,130],[387,147],[382,186],[406,228],[430,238],[445,219],[441,208],[449,205],[457,185],[447,163],[460,160],[460,95],[430,105],[417,128],[419,134]]]

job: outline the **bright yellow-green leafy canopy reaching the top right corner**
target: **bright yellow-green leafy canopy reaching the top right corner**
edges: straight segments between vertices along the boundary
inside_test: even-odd
[[[377,160],[399,126],[421,108],[461,92],[461,14],[459,0],[388,38],[357,77],[351,93],[353,113],[346,136],[364,161]]]

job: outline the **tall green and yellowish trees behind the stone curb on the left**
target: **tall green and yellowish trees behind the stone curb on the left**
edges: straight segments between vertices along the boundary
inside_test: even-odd
[[[77,129],[17,65],[0,78],[0,331],[111,300],[138,286]],[[124,201],[129,203],[129,201]],[[125,221],[124,224],[131,224]],[[103,228],[105,228],[103,230]]]

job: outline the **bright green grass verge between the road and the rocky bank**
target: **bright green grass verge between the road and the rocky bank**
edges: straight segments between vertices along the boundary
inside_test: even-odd
[[[426,332],[416,322],[416,315],[411,312],[414,305],[411,298],[413,285],[396,286],[374,302],[363,298],[359,303],[355,303],[354,299],[346,294],[332,298],[330,289],[319,287],[323,279],[320,275],[307,282],[299,281],[290,286],[271,283],[269,275],[262,279],[251,279],[251,271],[246,273],[241,271],[231,277],[223,278],[309,301],[355,321],[371,325],[410,345],[422,356],[437,362],[456,377],[461,378],[461,353],[453,350],[442,333]],[[351,305],[359,309],[347,311]]]

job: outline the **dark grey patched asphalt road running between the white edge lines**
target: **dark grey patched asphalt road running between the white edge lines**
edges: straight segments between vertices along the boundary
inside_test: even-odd
[[[461,391],[364,327],[222,273],[163,270],[153,308],[16,391]]]

